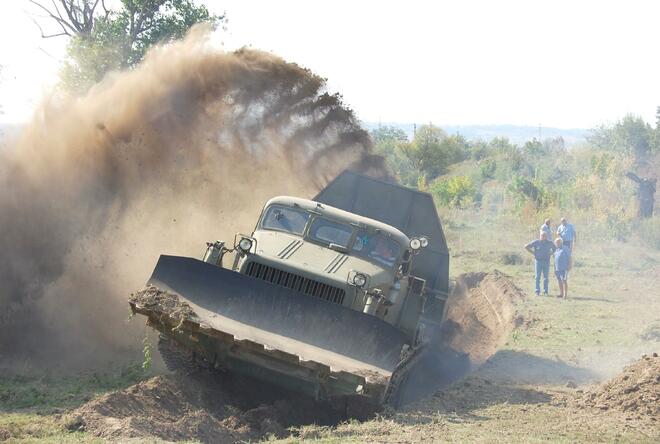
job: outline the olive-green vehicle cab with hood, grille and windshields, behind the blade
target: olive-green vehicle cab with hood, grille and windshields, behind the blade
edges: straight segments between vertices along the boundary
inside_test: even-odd
[[[419,240],[412,242],[413,246]],[[398,325],[409,293],[411,240],[382,222],[307,199],[269,200],[236,242],[245,275]]]

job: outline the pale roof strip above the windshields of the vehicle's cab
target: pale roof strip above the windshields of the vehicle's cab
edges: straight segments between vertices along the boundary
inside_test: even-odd
[[[406,236],[405,234],[403,234],[401,231],[394,228],[393,226],[387,225],[375,219],[359,216],[357,214],[350,213],[348,211],[340,210],[339,208],[331,207],[330,205],[322,204],[309,199],[302,199],[300,197],[292,197],[292,196],[273,197],[268,202],[266,202],[264,208],[267,208],[273,204],[283,205],[287,207],[297,207],[339,222],[357,225],[358,227],[361,228],[371,228],[374,230],[379,230],[382,234],[385,234],[386,236],[390,237],[394,241],[401,244],[403,248],[409,248],[410,239],[408,238],[408,236]]]

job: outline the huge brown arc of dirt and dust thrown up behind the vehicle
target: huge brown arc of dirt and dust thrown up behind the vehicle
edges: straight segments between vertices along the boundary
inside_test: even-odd
[[[1,154],[0,355],[134,351],[126,298],[160,253],[199,256],[344,168],[386,174],[321,77],[208,39],[195,28],[85,97],[52,97]]]

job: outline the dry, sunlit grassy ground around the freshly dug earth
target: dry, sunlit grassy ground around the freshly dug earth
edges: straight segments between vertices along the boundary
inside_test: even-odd
[[[660,440],[658,418],[570,403],[584,386],[660,348],[660,251],[587,236],[576,249],[569,299],[534,297],[532,258],[522,245],[534,238],[535,227],[515,229],[515,220],[474,214],[443,219],[452,276],[499,269],[530,295],[518,307],[520,327],[490,362],[446,392],[363,423],[304,426],[284,441]],[[551,293],[556,289],[551,281]],[[5,433],[15,442],[93,442],[85,433],[67,431],[59,415],[144,376],[131,367],[106,374],[5,377],[0,439]]]

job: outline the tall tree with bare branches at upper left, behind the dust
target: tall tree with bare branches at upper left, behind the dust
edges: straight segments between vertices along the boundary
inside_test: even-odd
[[[148,48],[183,37],[196,23],[224,21],[194,0],[121,0],[118,9],[104,0],[29,1],[59,31],[45,32],[35,21],[42,37],[71,39],[62,81],[74,92],[86,91],[109,71],[135,66]]]

